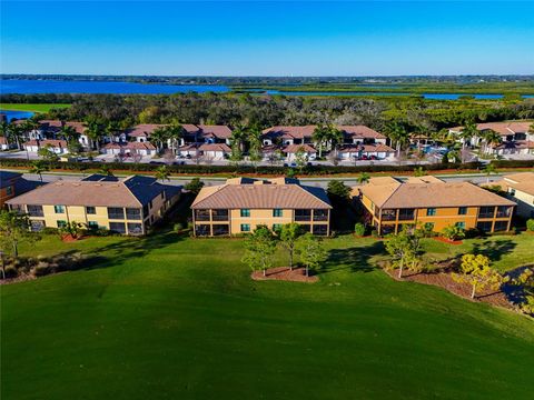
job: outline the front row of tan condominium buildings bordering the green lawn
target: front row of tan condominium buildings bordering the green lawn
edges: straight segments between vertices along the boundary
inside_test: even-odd
[[[2,171],[1,177],[2,201],[11,210],[27,213],[34,231],[76,221],[122,234],[145,234],[181,193],[180,187],[154,178],[93,174],[20,194],[14,192],[16,176]],[[516,208],[517,214],[534,217],[534,172],[505,177],[500,186],[506,197],[469,182],[444,182],[435,177],[380,177],[353,188],[352,196],[366,223],[380,236],[398,232],[404,224],[421,224],[435,232],[451,226],[504,232],[512,229]],[[329,236],[332,210],[323,188],[296,179],[234,178],[202,188],[191,204],[190,219],[195,236],[247,233],[260,224],[276,231],[289,222],[313,234]]]

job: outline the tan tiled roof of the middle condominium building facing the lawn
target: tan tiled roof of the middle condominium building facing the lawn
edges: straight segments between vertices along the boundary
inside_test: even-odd
[[[322,188],[296,183],[246,180],[205,187],[192,202],[192,209],[330,209]]]

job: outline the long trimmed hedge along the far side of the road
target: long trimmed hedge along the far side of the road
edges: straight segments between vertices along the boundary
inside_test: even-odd
[[[501,160],[493,161],[497,168],[530,168],[534,167],[534,161],[513,161]],[[26,159],[1,159],[0,167],[22,167],[30,168],[32,161]],[[101,162],[50,162],[51,170],[70,170],[70,171],[83,171],[83,170],[98,170],[102,167]],[[160,164],[150,163],[122,163],[122,162],[106,162],[111,171],[132,171],[132,172],[155,172]],[[443,171],[443,170],[477,170],[482,169],[483,164],[479,162],[466,162],[466,163],[434,163],[422,166],[427,171]],[[289,167],[280,166],[169,166],[171,173],[181,174],[211,174],[211,173],[236,173],[236,174],[284,174]],[[294,168],[300,176],[329,176],[338,173],[359,173],[359,172],[412,172],[415,166],[352,166],[352,167],[334,167],[334,166],[307,166],[300,170]]]

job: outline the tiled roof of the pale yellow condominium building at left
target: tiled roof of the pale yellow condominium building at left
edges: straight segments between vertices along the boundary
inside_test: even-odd
[[[121,181],[56,181],[7,201],[8,204],[131,207],[147,204],[161,192],[179,187],[156,182],[155,178],[129,177]]]

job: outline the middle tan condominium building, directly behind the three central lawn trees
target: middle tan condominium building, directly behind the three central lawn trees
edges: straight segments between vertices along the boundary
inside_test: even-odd
[[[290,222],[314,234],[330,233],[332,206],[325,190],[296,179],[228,179],[202,188],[191,209],[196,236],[248,233],[260,224],[276,230]]]

